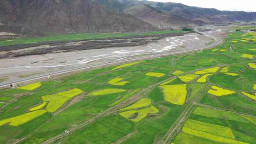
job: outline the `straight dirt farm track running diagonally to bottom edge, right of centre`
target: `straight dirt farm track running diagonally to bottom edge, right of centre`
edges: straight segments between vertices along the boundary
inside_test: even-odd
[[[183,113],[178,117],[175,123],[170,127],[168,132],[164,135],[162,140],[158,144],[170,144],[174,137],[179,133],[182,126],[185,124],[189,116],[192,114],[194,109],[196,108],[196,103],[203,98],[203,93],[205,93],[209,88],[210,84],[206,84],[204,88],[199,91],[197,96],[192,99],[192,101],[184,108]]]

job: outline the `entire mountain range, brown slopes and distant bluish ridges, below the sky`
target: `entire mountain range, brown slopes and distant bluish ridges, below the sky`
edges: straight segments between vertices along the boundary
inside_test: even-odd
[[[146,0],[0,0],[0,31],[25,34],[138,32],[255,21],[256,12]]]

